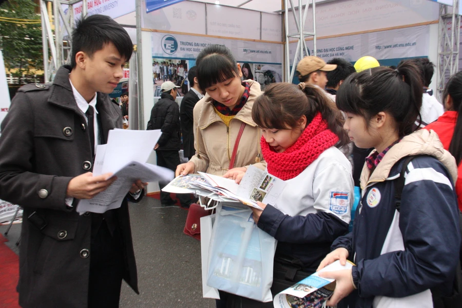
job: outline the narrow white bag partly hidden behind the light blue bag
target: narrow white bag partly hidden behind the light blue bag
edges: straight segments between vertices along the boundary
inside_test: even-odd
[[[202,297],[220,299],[218,290],[207,285],[208,251],[215,214],[201,217]]]

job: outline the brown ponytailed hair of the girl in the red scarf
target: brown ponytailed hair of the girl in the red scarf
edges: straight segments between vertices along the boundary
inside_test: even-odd
[[[330,105],[330,99],[313,85],[300,83],[273,83],[265,88],[252,107],[252,119],[260,128],[287,130],[296,127],[304,115],[311,123],[319,112],[328,128],[338,136],[337,147],[350,142],[342,127],[342,115]]]

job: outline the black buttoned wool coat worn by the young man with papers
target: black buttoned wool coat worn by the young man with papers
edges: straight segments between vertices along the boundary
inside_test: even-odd
[[[93,158],[69,73],[62,66],[53,84],[20,88],[1,126],[0,198],[24,208],[17,291],[25,308],[87,307],[91,215],[79,215],[79,200],[68,207],[65,198],[71,178],[91,171]],[[97,108],[106,143],[109,130],[122,127],[121,110],[102,93]],[[127,201],[112,211],[124,241],[124,279],[138,293]]]

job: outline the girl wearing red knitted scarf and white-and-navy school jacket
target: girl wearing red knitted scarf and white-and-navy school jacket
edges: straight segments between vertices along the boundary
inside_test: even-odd
[[[313,274],[332,242],[348,232],[354,184],[351,164],[336,148],[348,136],[321,91],[304,83],[272,84],[252,109],[267,171],[287,183],[275,204],[252,208],[257,226],[278,240],[273,296]],[[233,307],[273,307],[233,300]]]

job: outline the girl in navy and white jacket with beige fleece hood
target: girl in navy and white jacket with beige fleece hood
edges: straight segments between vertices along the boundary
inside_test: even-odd
[[[320,273],[337,281],[327,304],[351,294],[339,307],[433,307],[435,289],[451,295],[458,263],[457,166],[434,131],[415,131],[422,104],[418,69],[405,61],[397,69],[353,74],[336,103],[347,114],[350,139],[375,150],[361,173],[353,231],[334,242],[318,268],[347,258],[356,264]]]

